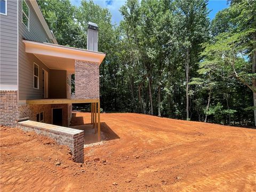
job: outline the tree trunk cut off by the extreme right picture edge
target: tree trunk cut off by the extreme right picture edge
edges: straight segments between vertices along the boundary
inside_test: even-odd
[[[252,73],[254,74],[256,71],[256,33],[252,35],[253,39],[253,52],[252,52]],[[254,126],[256,126],[256,79],[252,78],[252,87],[253,87],[253,107],[254,107]]]

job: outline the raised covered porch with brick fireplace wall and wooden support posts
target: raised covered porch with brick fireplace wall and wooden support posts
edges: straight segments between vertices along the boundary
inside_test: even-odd
[[[34,54],[49,71],[49,76],[39,82],[37,89],[39,94],[33,95],[33,98],[27,97],[26,105],[35,106],[35,108],[40,105],[49,106],[47,108],[46,123],[50,123],[49,118],[54,118],[54,107],[65,106],[65,111],[68,110],[68,113],[60,113],[60,116],[63,119],[65,118],[66,122],[66,119],[70,117],[70,106],[72,104],[89,103],[91,112],[90,124],[94,129],[94,134],[97,134],[98,141],[100,141],[99,65],[106,54],[50,43],[27,41],[25,39],[23,43],[26,46],[26,53]],[[38,68],[41,70],[40,66]],[[59,71],[62,71],[66,76],[64,75],[61,78],[58,75],[60,74]],[[75,74],[73,84],[75,93],[73,92],[72,97],[71,74]],[[49,92],[49,94],[44,94],[46,92]],[[51,112],[49,112],[49,108],[51,108]],[[36,113],[38,113],[38,110]],[[51,113],[51,117],[49,113]],[[53,124],[53,120],[51,124]],[[69,126],[69,123],[64,126]]]

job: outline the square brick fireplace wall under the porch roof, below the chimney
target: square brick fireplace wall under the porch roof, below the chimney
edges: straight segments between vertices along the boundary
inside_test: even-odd
[[[99,64],[87,61],[75,61],[75,98],[99,99]]]

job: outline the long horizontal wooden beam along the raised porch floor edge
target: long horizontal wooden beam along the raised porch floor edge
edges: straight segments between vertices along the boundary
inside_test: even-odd
[[[95,103],[100,99],[33,99],[27,100],[29,105],[37,104],[71,104],[71,103]]]

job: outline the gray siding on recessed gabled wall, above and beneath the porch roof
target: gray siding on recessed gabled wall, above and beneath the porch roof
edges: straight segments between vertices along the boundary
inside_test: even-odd
[[[30,2],[26,2],[29,6],[29,30],[22,23],[22,1],[19,1],[19,99],[42,99],[42,68],[48,71],[48,73],[50,70],[34,54],[25,52],[25,44],[22,42],[22,39],[36,42],[46,42],[46,39],[50,42],[50,39]],[[34,62],[39,66],[39,89],[34,89]],[[49,78],[50,76],[51,74],[49,73]]]

